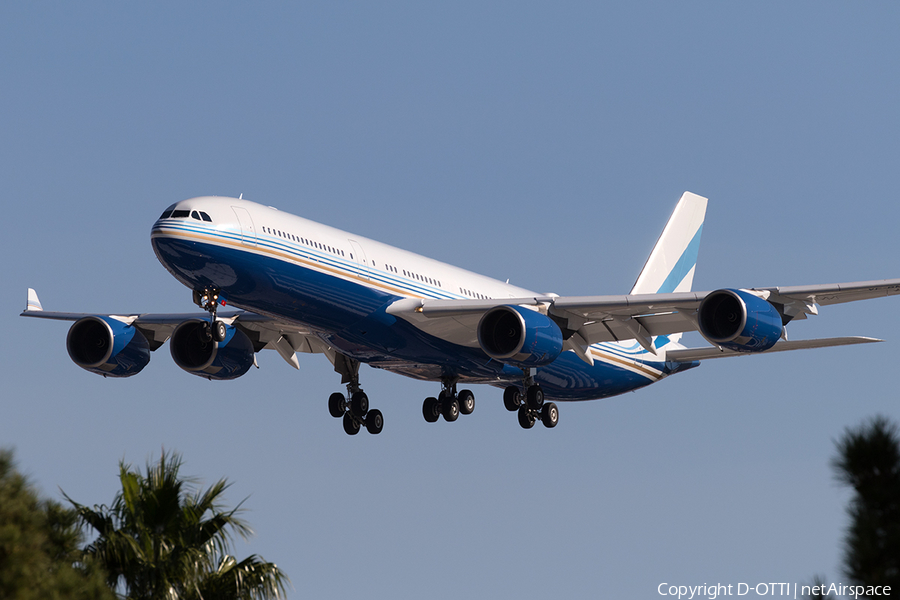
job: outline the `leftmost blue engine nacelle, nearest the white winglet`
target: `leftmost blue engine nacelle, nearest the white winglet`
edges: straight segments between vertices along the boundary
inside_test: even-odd
[[[132,325],[112,317],[82,317],[69,328],[66,350],[72,361],[104,377],[131,377],[150,362],[150,344]]]

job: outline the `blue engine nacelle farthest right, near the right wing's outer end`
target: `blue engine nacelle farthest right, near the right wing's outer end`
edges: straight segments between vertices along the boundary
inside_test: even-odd
[[[741,290],[710,292],[697,312],[703,337],[738,352],[768,350],[784,327],[774,306]]]

